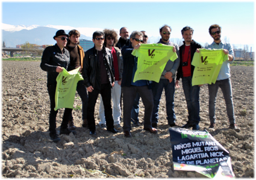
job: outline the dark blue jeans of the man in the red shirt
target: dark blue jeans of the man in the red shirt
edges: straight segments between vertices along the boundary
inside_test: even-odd
[[[189,111],[189,121],[198,124],[200,121],[199,106],[199,86],[192,86],[192,76],[183,77],[183,91],[187,101],[187,110]]]

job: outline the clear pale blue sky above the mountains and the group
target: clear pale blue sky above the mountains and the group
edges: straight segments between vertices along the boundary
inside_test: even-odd
[[[181,29],[191,26],[193,39],[213,40],[210,25],[222,27],[222,38],[231,44],[254,44],[253,1],[237,2],[10,2],[2,1],[2,23],[9,25],[64,25],[75,28],[126,26],[159,36],[159,28],[171,26],[171,38],[182,38]]]

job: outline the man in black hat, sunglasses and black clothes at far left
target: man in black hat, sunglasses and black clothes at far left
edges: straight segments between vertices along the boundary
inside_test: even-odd
[[[74,69],[74,67],[69,67],[69,51],[64,48],[67,44],[68,37],[69,35],[66,34],[64,30],[58,30],[54,36],[54,40],[56,40],[57,43],[54,46],[46,47],[46,49],[43,51],[42,62],[40,64],[42,70],[47,71],[47,88],[51,103],[51,111],[49,115],[49,135],[54,142],[60,141],[60,138],[56,133],[56,116],[58,110],[54,110],[55,91],[57,86],[56,78],[58,73],[63,71],[63,68],[68,71]],[[65,109],[63,121],[60,126],[60,134],[69,134],[71,132],[75,134],[75,131],[70,131],[67,128],[67,123],[69,122],[71,113],[72,109]]]

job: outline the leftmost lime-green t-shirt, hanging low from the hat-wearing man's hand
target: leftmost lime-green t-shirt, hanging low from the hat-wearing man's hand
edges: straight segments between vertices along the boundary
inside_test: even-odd
[[[78,81],[84,80],[79,72],[80,68],[68,71],[63,68],[63,71],[58,73],[57,86],[55,92],[55,108],[70,108],[73,109],[73,101],[75,100],[75,91]],[[86,93],[86,92],[85,92]]]

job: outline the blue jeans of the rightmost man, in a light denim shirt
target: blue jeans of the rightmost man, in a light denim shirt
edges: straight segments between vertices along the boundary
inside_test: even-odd
[[[232,85],[230,78],[224,80],[216,80],[215,84],[208,85],[209,90],[209,118],[211,123],[215,123],[215,104],[218,89],[222,90],[226,103],[226,112],[228,113],[229,124],[236,124],[234,116],[234,105],[232,95]]]

